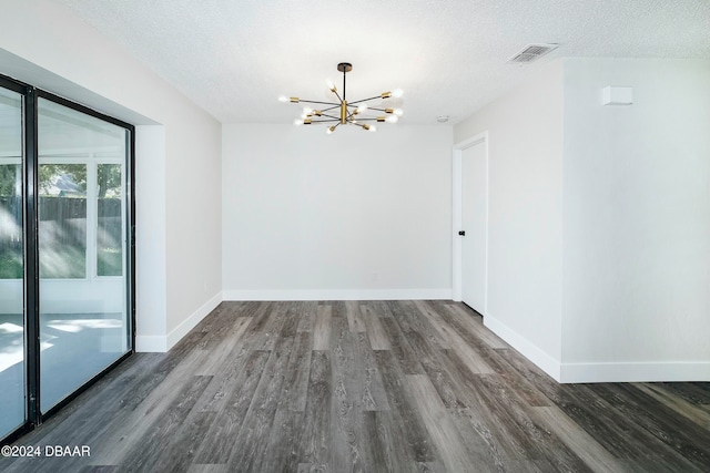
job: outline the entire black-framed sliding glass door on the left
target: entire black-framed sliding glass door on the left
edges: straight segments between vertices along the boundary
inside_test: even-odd
[[[133,127],[0,76],[0,440],[133,350]]]

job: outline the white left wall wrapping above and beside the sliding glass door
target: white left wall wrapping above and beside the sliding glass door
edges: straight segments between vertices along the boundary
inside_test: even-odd
[[[138,137],[141,148],[154,153],[136,154],[136,218],[142,225],[136,244],[163,256],[138,255],[136,345],[143,350],[169,348],[221,300],[220,124],[51,1],[4,1],[0,44],[3,72],[130,123],[163,126],[145,140],[160,140],[162,133],[164,143]],[[139,127],[136,134],[144,131]],[[164,174],[141,172],[146,169]],[[142,204],[146,199],[151,203]],[[164,238],[164,244],[155,238]],[[164,269],[141,276],[155,261]],[[153,278],[160,274],[166,279]]]

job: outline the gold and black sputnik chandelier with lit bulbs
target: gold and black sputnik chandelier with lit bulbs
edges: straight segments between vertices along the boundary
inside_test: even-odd
[[[331,134],[339,125],[356,125],[365,131],[374,132],[377,127],[374,124],[367,122],[388,122],[397,123],[399,116],[402,116],[402,109],[381,109],[369,106],[368,101],[376,99],[392,99],[400,97],[402,89],[396,89],[392,92],[383,92],[379,95],[375,95],[368,99],[356,100],[348,102],[345,97],[345,74],[353,70],[353,64],[349,62],[341,62],[337,64],[337,70],[343,73],[343,95],[337,91],[337,88],[331,82],[327,82],[327,86],[337,97],[337,102],[318,102],[315,100],[303,100],[297,96],[287,97],[282,95],[278,97],[281,102],[290,103],[304,103],[308,105],[321,106],[320,110],[314,110],[311,106],[303,109],[301,119],[296,119],[294,124],[296,125],[311,125],[313,123],[326,123],[329,124],[326,128],[326,133]],[[325,106],[323,106],[325,105]],[[374,114],[374,116],[372,115]]]

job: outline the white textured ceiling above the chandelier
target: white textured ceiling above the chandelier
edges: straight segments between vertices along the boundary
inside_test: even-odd
[[[291,123],[338,62],[351,100],[402,88],[403,123],[466,119],[560,56],[710,59],[708,0],[54,0],[224,123]],[[559,43],[536,63],[506,61]]]

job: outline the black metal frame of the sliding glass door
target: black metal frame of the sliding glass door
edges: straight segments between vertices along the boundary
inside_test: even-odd
[[[19,93],[23,97],[22,106],[22,226],[24,248],[24,366],[26,366],[26,421],[3,439],[0,444],[6,445],[24,433],[41,425],[44,420],[57,413],[74,398],[94,384],[101,377],[111,371],[135,351],[135,126],[110,115],[98,112],[88,106],[72,102],[50,92],[17,81],[0,74],[0,88]],[[39,307],[39,200],[38,200],[38,99],[45,99],[95,119],[109,122],[126,130],[126,308],[129,310],[128,342],[130,350],[116,361],[106,367],[99,374],[79,387],[57,405],[42,414],[40,409],[40,307]]]

